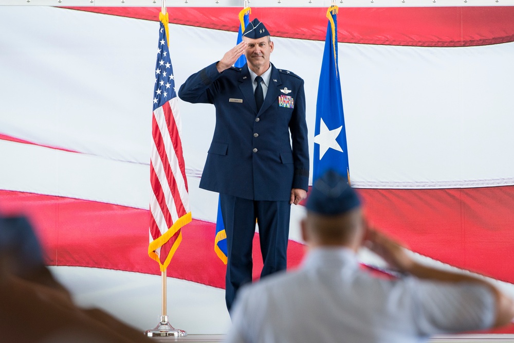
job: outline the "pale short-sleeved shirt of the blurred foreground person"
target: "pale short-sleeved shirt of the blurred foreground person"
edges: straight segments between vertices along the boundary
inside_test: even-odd
[[[494,306],[483,285],[380,278],[349,249],[314,249],[298,271],[242,288],[227,341],[426,342],[491,327]]]

